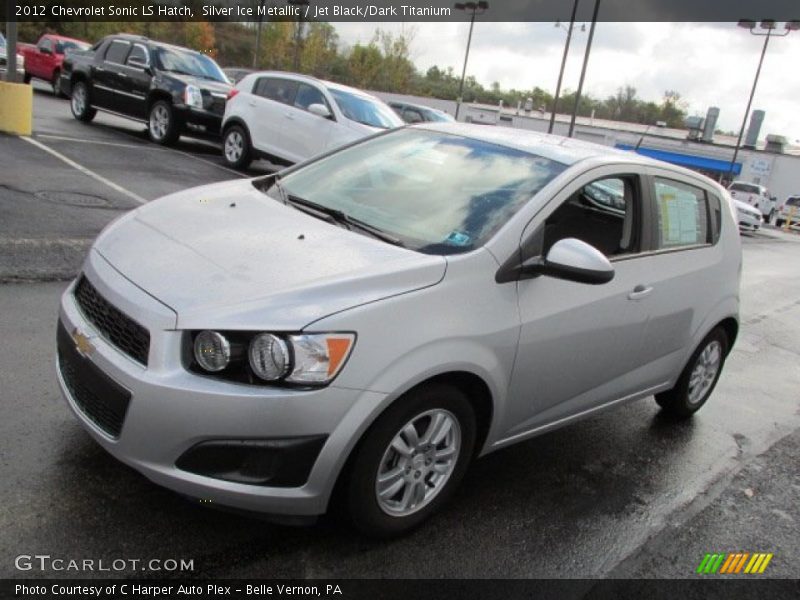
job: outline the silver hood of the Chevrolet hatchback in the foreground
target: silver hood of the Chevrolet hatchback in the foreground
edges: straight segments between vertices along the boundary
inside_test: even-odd
[[[446,259],[321,221],[249,180],[179,192],[104,231],[94,251],[172,308],[176,328],[300,330],[434,285]]]

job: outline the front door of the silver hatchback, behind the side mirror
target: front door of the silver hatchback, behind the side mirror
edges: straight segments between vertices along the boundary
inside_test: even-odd
[[[640,257],[650,229],[636,167],[589,171],[528,224],[524,259],[577,238],[605,254],[614,278],[590,285],[539,276],[517,282],[521,330],[511,377],[508,437],[624,398],[647,381],[640,348],[652,273]]]

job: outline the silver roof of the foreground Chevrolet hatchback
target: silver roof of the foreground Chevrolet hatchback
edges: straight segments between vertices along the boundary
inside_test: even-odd
[[[588,158],[613,158],[614,162],[622,161],[642,165],[663,166],[665,164],[646,156],[619,150],[611,146],[603,146],[575,138],[566,138],[560,135],[551,135],[527,129],[444,122],[421,123],[414,125],[414,128],[452,133],[489,142],[490,144],[507,146],[567,165],[572,165]],[[674,167],[674,165],[669,166]],[[686,172],[685,169],[680,167],[675,169]],[[691,171],[689,172],[691,173]]]

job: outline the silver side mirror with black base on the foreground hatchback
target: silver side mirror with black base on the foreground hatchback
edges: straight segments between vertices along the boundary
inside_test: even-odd
[[[520,272],[594,285],[614,279],[614,267],[605,255],[575,238],[557,241],[544,259],[536,257],[526,261]]]

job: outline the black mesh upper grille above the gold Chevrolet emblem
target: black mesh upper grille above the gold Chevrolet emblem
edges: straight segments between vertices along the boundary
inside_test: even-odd
[[[147,366],[150,332],[116,308],[81,276],[75,287],[75,299],[84,316],[104,338],[137,362]]]

